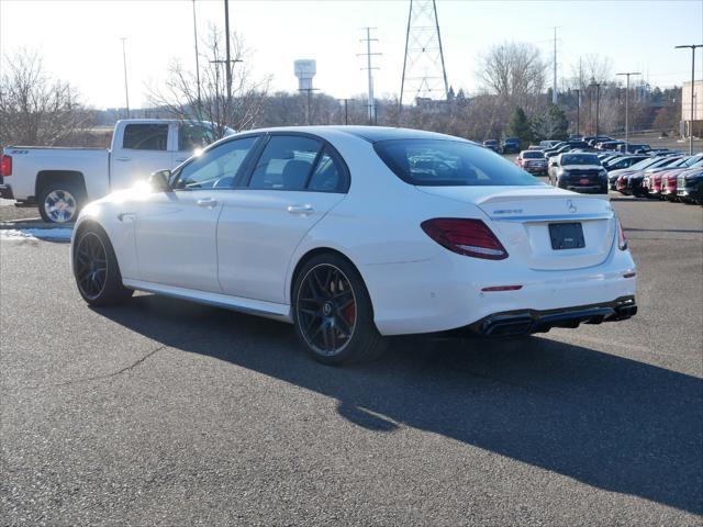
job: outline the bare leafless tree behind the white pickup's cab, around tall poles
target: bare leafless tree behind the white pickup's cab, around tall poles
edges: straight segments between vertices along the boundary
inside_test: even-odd
[[[246,63],[250,53],[244,47],[242,36],[232,35],[232,64],[228,65],[222,40],[222,33],[211,26],[204,53],[200,55],[200,91],[196,71],[186,69],[178,60],[171,64],[164,87],[149,90],[152,103],[177,119],[213,123],[215,138],[223,137],[226,127],[239,131],[256,126],[268,91],[268,79],[252,79]],[[232,71],[231,98],[227,97],[227,67]]]

